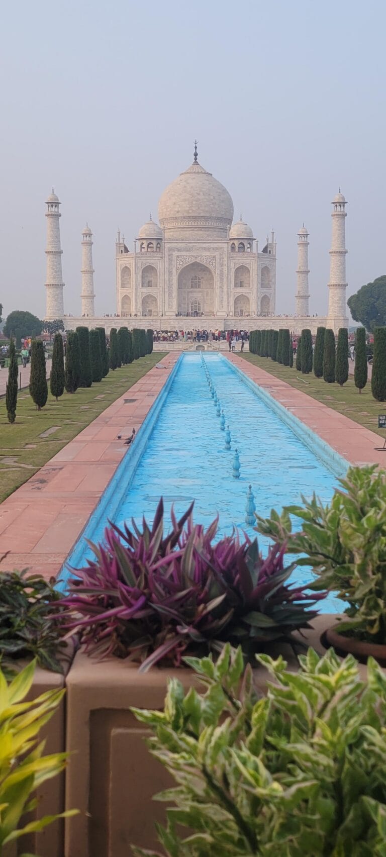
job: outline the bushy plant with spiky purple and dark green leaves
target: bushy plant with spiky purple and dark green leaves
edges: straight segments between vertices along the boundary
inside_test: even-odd
[[[132,520],[105,530],[93,559],[73,570],[69,595],[57,602],[59,620],[81,634],[89,654],[129,657],[142,672],[154,664],[179,666],[187,654],[241,644],[246,657],[273,640],[291,640],[310,627],[316,602],[290,584],[295,563],[284,566],[286,545],[266,559],[256,539],[238,533],[215,542],[218,518],[204,530],[193,524],[193,504],[164,536],[161,498],[150,528]]]

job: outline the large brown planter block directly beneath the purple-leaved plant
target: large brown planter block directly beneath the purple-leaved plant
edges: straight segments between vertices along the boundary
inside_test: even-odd
[[[320,636],[332,616],[318,617],[315,630],[299,641],[323,654]],[[275,644],[290,669],[298,662],[288,645]],[[197,683],[188,669],[153,668],[146,674],[127,661],[97,662],[78,651],[67,677],[67,739],[71,753],[66,773],[66,808],[81,812],[65,820],[65,857],[128,857],[130,845],[159,848],[154,822],[165,822],[166,807],[153,795],[172,785],[166,770],[148,752],[151,734],[130,712],[162,709],[167,680],[177,677],[185,689]],[[268,673],[256,669],[264,692]]]

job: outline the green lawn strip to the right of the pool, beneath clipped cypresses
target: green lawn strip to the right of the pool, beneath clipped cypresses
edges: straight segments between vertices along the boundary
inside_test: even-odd
[[[275,378],[280,378],[281,381],[286,381],[291,387],[303,390],[303,393],[311,396],[312,399],[323,402],[333,411],[340,411],[354,423],[370,428],[371,431],[380,434],[383,439],[385,438],[384,429],[378,428],[378,414],[386,413],[386,402],[377,402],[376,399],[373,399],[369,381],[362,393],[359,394],[359,390],[354,385],[353,375],[349,375],[346,384],[340,387],[339,384],[327,384],[323,378],[316,378],[313,373],[302,375],[295,367],[290,369],[289,366],[282,366],[281,363],[275,363],[270,357],[257,357],[256,354],[250,354],[247,351],[244,351],[243,354],[239,353],[239,357],[244,357],[244,360],[248,360],[249,363],[253,363],[260,369],[265,369]]]

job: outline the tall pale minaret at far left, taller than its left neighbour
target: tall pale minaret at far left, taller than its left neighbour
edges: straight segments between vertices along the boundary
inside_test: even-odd
[[[46,279],[45,279],[45,318],[63,319],[63,275],[62,275],[62,253],[60,249],[59,212],[60,202],[54,190],[45,201],[47,211],[47,243],[46,256]]]

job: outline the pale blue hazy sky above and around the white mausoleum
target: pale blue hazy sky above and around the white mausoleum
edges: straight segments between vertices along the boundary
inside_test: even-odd
[[[386,273],[384,0],[20,0],[0,27],[0,302],[45,311],[45,198],[62,201],[64,306],[80,312],[81,229],[96,311],[115,309],[114,241],[199,160],[259,239],[277,237],[293,313],[310,231],[311,313],[326,312],[330,201],[347,205],[348,292]]]

